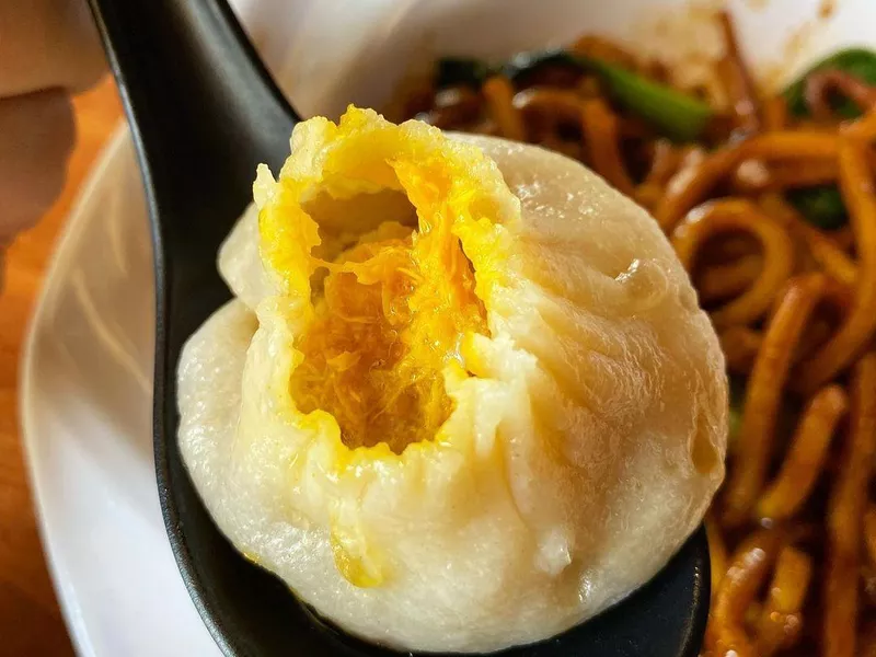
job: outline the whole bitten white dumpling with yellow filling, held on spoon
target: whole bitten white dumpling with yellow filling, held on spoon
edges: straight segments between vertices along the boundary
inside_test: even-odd
[[[552,636],[654,576],[724,475],[724,361],[654,220],[532,146],[350,108],[298,125],[188,341],[219,528],[394,648]]]

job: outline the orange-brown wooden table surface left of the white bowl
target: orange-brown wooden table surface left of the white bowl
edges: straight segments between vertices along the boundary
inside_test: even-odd
[[[9,250],[0,296],[0,656],[57,657],[73,650],[46,570],[18,424],[19,356],[27,320],[65,217],[122,116],[112,81],[76,100],[79,139],[61,197]]]

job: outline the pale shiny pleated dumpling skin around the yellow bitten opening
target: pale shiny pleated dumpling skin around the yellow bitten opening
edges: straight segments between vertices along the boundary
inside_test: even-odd
[[[350,456],[284,419],[296,302],[260,266],[250,210],[220,256],[238,299],[183,353],[180,446],[219,528],[325,618],[396,648],[491,652],[593,615],[667,563],[724,475],[726,381],[644,210],[562,155],[453,139],[519,199],[475,377],[447,380],[443,429],[464,439]],[[342,461],[358,474],[326,474]],[[337,544],[378,580],[350,584]]]

